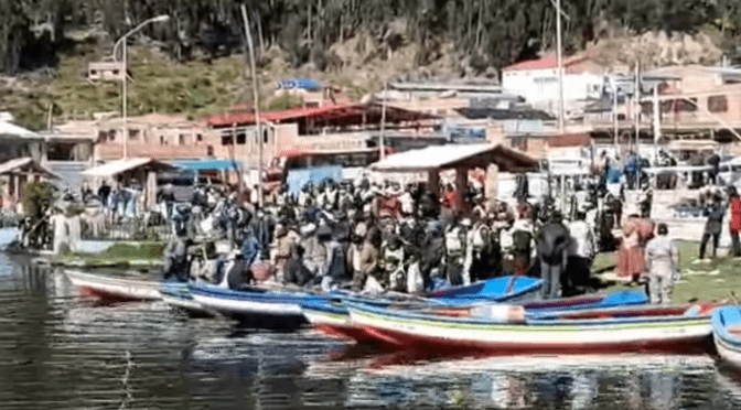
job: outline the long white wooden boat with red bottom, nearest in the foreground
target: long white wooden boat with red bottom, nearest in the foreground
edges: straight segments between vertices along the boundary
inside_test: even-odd
[[[397,347],[497,354],[699,350],[711,334],[712,304],[631,306],[527,319],[523,306],[397,311],[346,302],[352,321]]]

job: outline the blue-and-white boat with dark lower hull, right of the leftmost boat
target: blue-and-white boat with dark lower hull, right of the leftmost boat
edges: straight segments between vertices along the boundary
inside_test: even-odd
[[[301,303],[322,298],[315,293],[246,288],[233,290],[214,284],[190,287],[203,308],[259,327],[298,327],[305,323]]]

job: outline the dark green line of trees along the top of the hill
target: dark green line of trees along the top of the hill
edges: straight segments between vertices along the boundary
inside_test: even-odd
[[[53,65],[69,46],[69,29],[97,26],[117,39],[141,21],[169,14],[144,34],[173,56],[194,48],[212,55],[244,47],[240,6],[250,18],[258,52],[271,45],[300,65],[323,67],[333,43],[359,32],[393,48],[421,46],[420,63],[440,40],[480,66],[531,56],[555,42],[555,0],[0,0],[0,68],[8,74]],[[739,0],[562,0],[565,46],[583,47],[608,25],[635,32],[692,32],[715,25],[739,36]]]

